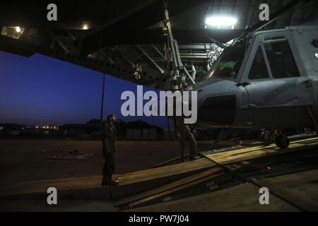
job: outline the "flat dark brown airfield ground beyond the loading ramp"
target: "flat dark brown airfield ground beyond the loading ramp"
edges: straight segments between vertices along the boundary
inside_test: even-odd
[[[223,141],[218,147],[229,145]],[[198,142],[199,150],[211,142]],[[118,141],[116,173],[124,174],[150,169],[165,160],[177,157],[175,141]],[[89,153],[87,160],[48,160],[47,157],[66,155],[69,151]],[[0,140],[0,186],[18,182],[89,177],[102,174],[102,144],[100,141],[64,140]]]

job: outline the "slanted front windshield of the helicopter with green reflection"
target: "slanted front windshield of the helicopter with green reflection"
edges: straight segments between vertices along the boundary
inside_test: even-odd
[[[245,57],[246,44],[247,38],[244,38],[232,47],[225,49],[210,71],[208,71],[206,78],[223,76],[235,79]]]

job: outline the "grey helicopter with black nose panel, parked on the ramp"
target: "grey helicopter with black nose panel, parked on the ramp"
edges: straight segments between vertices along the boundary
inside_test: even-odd
[[[278,129],[276,145],[287,148],[284,129],[317,129],[317,85],[317,25],[250,32],[192,85],[198,92],[196,124]]]

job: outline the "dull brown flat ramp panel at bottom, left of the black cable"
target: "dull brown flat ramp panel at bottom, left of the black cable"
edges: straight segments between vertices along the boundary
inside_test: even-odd
[[[208,194],[169,201],[153,206],[134,208],[131,212],[212,212],[212,211],[300,211],[275,196],[271,205],[259,203],[259,187],[254,184],[240,184],[229,189]]]

